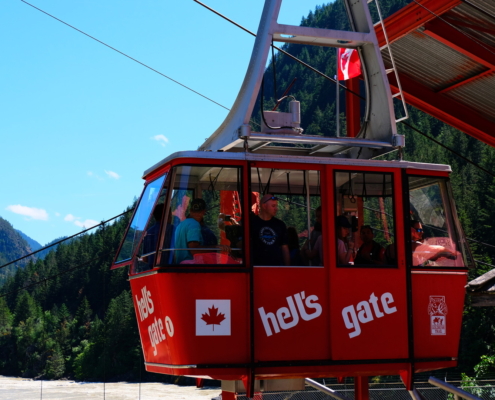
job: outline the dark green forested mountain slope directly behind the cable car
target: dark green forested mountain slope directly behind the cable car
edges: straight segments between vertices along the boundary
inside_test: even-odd
[[[386,12],[407,3],[381,1]],[[318,7],[303,19],[306,26],[347,28],[340,2]],[[335,50],[299,45],[286,46],[291,54],[333,76]],[[302,106],[305,132],[335,134],[335,86],[284,56],[276,56],[277,95],[294,77],[290,94]],[[265,109],[274,103],[273,71],[265,75]],[[343,105],[342,105],[343,106]],[[495,150],[441,122],[410,109],[408,121],[465,157],[492,171]],[[255,111],[259,120],[259,105]],[[495,245],[495,180],[474,166],[437,146],[405,125],[407,160],[450,164],[452,185],[466,234],[479,242]],[[187,144],[184,143],[184,147]],[[390,154],[388,157],[396,157]],[[117,213],[117,212],[116,212]],[[142,356],[126,268],[110,271],[129,214],[114,224],[100,227],[65,243],[45,259],[31,261],[0,288],[0,374],[29,377],[79,379],[138,379]],[[2,223],[0,219],[0,223]],[[22,242],[19,242],[22,243]],[[1,246],[1,244],[0,244]],[[21,244],[19,244],[20,247]],[[475,258],[491,264],[493,248],[471,242]],[[0,248],[1,251],[1,248]],[[478,264],[470,278],[489,266]],[[44,281],[45,278],[53,278]],[[43,282],[41,285],[35,285]],[[26,287],[26,290],[20,288]],[[472,308],[467,298],[460,366],[473,373],[482,355],[495,355],[495,313]],[[156,375],[159,379],[159,376]]]

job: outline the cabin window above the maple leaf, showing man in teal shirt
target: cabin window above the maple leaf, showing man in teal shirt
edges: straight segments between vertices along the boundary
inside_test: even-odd
[[[241,187],[240,168],[175,167],[160,266],[241,264]]]

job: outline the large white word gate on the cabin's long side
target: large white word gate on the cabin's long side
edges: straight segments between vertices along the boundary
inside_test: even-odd
[[[378,297],[376,297],[374,293],[371,293],[368,301],[361,301],[356,307],[351,305],[342,309],[342,318],[344,318],[345,327],[347,329],[354,329],[349,333],[350,338],[361,334],[360,322],[366,324],[367,322],[373,321],[375,319],[374,317],[382,318],[385,314],[393,314],[397,311],[397,307],[390,307],[390,304],[394,302],[392,293],[383,293],[380,297],[380,302],[382,304],[383,312],[378,304]],[[374,312],[371,311],[370,304],[373,306]]]

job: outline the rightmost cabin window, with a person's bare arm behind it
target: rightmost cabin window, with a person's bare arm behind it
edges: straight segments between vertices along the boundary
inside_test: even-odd
[[[467,252],[459,240],[446,180],[409,177],[412,262],[415,267],[463,267]]]

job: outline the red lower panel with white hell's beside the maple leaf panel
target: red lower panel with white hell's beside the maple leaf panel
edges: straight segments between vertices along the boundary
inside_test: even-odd
[[[255,359],[329,359],[328,269],[259,267],[254,278]]]

